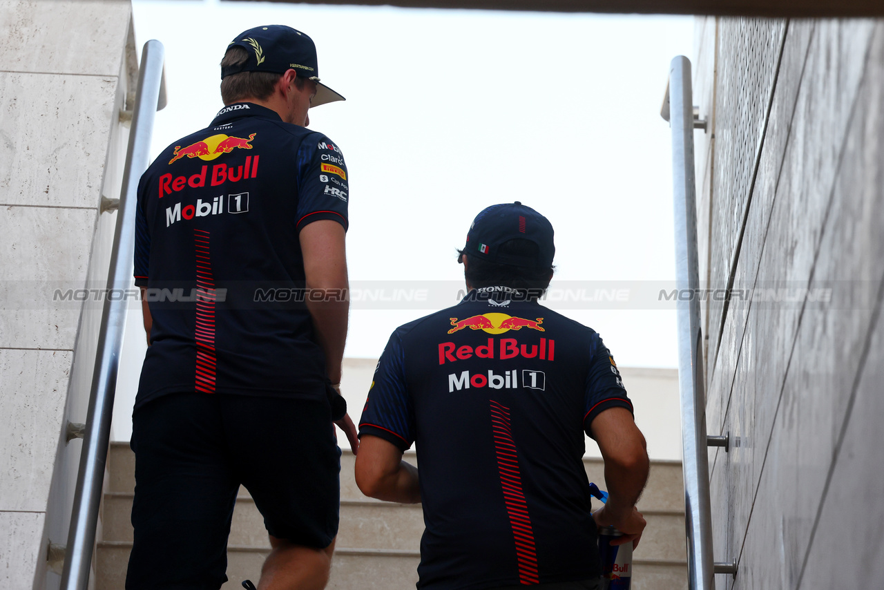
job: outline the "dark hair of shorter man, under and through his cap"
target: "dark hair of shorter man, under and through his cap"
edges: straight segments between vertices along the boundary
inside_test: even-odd
[[[500,254],[510,256],[537,256],[539,248],[530,240],[516,238],[507,240],[498,247]],[[469,264],[464,274],[470,287],[511,287],[516,289],[530,289],[532,291],[544,291],[549,287],[552,272],[555,266],[548,268],[529,268],[514,266],[513,264],[499,264],[489,262],[484,258],[472,256],[465,250],[458,250],[457,261],[463,262],[463,256],[469,257]]]

